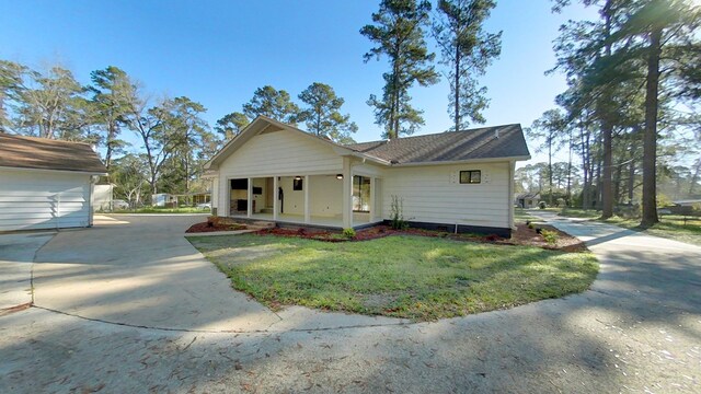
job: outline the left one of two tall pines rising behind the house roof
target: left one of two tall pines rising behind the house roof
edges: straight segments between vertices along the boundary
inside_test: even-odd
[[[384,126],[388,138],[411,135],[424,124],[422,112],[412,107],[409,89],[418,83],[428,86],[438,81],[424,39],[424,27],[428,25],[430,2],[427,0],[382,0],[380,9],[372,14],[372,22],[360,30],[376,47],[365,54],[365,61],[378,60],[382,55],[390,62],[390,71],[382,74],[382,97],[370,95],[368,105],[375,107],[376,124]]]

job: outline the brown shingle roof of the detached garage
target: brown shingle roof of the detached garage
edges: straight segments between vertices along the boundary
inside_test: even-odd
[[[0,166],[106,174],[90,144],[0,132]]]

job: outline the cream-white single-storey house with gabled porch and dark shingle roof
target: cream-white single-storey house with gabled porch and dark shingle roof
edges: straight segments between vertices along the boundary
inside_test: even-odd
[[[519,125],[336,144],[260,116],[206,165],[219,216],[326,228],[389,220],[508,235]]]

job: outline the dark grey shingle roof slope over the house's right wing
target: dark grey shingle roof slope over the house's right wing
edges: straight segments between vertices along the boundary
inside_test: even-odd
[[[395,164],[530,155],[520,125],[483,127],[347,147]]]

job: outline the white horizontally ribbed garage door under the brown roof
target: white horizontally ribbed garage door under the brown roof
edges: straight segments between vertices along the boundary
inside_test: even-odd
[[[0,170],[0,231],[90,224],[90,175]]]

